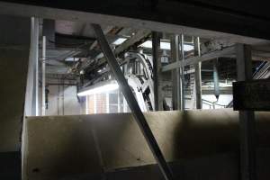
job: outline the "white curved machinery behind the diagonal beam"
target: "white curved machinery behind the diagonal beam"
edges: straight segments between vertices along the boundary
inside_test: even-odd
[[[137,52],[127,52],[121,60],[121,69],[128,80],[130,88],[139,103],[141,111],[153,111],[154,107],[154,87],[153,87],[153,63],[152,58],[146,54]],[[91,85],[106,81],[111,81],[112,76],[108,67],[103,69],[101,77],[97,78]],[[91,86],[86,83],[84,88]]]

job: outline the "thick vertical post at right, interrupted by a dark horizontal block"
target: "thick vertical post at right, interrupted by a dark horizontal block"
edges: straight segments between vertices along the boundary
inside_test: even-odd
[[[238,81],[252,79],[251,48],[237,44]],[[240,170],[242,180],[257,179],[256,171],[256,122],[252,111],[239,111]]]

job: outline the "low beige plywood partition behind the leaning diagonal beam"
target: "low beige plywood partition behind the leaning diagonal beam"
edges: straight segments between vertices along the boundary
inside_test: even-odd
[[[149,126],[170,162],[238,151],[238,112],[230,109],[147,112]],[[270,113],[257,113],[258,146],[268,147]],[[28,179],[78,175],[155,164],[130,113],[28,117]],[[58,178],[59,179],[59,178]]]

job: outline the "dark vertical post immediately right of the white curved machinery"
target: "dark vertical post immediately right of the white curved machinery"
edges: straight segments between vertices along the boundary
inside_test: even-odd
[[[154,75],[154,100],[155,111],[163,110],[163,99],[160,88],[160,74],[161,74],[161,53],[160,53],[160,36],[157,31],[152,32],[152,53],[153,53],[153,75]]]

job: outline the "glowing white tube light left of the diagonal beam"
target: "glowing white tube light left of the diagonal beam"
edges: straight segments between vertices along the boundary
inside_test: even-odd
[[[116,83],[116,81],[111,81],[110,83],[98,83],[96,85],[91,85],[89,87],[85,87],[82,89],[77,95],[78,96],[85,96],[89,94],[100,94],[108,91],[113,91],[119,88],[119,85]]]

